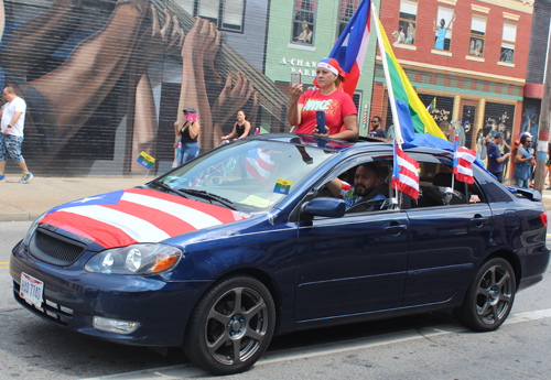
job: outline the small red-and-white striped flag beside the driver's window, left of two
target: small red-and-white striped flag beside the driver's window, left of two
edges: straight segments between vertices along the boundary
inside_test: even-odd
[[[419,198],[419,162],[406,154],[396,143],[393,145],[395,163],[392,167],[392,188]]]

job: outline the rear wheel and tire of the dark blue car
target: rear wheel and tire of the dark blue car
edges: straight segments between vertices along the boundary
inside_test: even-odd
[[[517,291],[515,271],[501,258],[486,261],[475,273],[455,317],[477,332],[493,332],[507,319]]]

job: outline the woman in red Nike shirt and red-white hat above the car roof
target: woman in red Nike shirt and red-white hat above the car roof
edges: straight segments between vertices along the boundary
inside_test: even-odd
[[[287,120],[291,126],[298,126],[294,132],[341,140],[357,139],[358,111],[352,98],[339,90],[341,83],[346,79],[338,62],[335,58],[321,59],[317,63],[316,80],[320,89],[304,91],[302,84],[290,86],[291,105],[287,110]],[[327,133],[320,133],[316,128],[317,110],[325,111]]]

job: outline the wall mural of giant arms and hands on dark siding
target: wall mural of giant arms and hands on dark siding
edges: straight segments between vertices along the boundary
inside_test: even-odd
[[[23,154],[34,173],[89,174],[98,160],[101,174],[139,173],[141,151],[172,162],[173,123],[187,107],[197,109],[202,152],[239,109],[252,130],[284,129],[288,94],[244,57],[245,42],[225,42],[225,24],[179,4],[193,1],[0,3],[0,80],[28,104]],[[267,13],[257,18],[266,30]]]

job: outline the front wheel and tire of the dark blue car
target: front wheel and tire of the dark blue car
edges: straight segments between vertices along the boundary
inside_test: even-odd
[[[252,367],[268,348],[276,326],[269,290],[251,276],[220,281],[197,303],[184,337],[185,356],[215,374]]]

